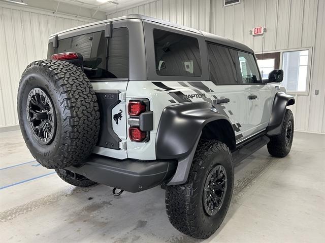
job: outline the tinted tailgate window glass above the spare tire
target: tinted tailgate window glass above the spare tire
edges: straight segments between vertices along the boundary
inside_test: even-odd
[[[128,78],[128,30],[113,29],[110,39],[104,31],[61,39],[57,53],[77,52],[83,56],[85,73],[90,79]]]

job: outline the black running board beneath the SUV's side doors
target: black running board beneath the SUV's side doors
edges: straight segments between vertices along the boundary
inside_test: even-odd
[[[269,141],[270,139],[268,136],[262,135],[248,143],[237,145],[237,149],[232,152],[234,163],[237,164],[247,158],[249,155],[266,145]]]

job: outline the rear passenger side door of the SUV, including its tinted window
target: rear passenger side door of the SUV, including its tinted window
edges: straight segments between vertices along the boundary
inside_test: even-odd
[[[236,69],[239,69],[237,51],[208,43],[211,92],[218,112],[229,117],[233,124],[236,142],[248,136],[248,99],[245,86]]]

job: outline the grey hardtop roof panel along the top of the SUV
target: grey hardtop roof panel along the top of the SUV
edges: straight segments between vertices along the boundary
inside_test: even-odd
[[[156,18],[152,18],[152,17],[140,15],[140,14],[129,14],[129,15],[125,15],[122,17],[118,17],[118,18],[106,19],[106,20],[102,20],[102,21],[98,21],[98,22],[93,22],[93,23],[77,26],[77,27],[74,27],[71,29],[63,30],[63,31],[57,32],[55,34],[52,34],[50,36],[50,38],[55,35],[58,35],[58,34],[62,34],[62,33],[77,30],[77,29],[82,29],[82,28],[89,27],[89,26],[94,26],[94,25],[99,25],[99,24],[104,24],[104,23],[109,23],[109,22],[114,22],[114,21],[119,21],[119,20],[128,20],[128,19],[142,19],[142,20],[147,20],[150,22],[158,23],[158,24],[171,26],[174,28],[179,28],[179,29],[182,29],[185,31],[194,32],[194,33],[204,36],[204,38],[206,39],[207,42],[212,42],[212,43],[220,44],[223,46],[228,46],[228,47],[232,47],[235,49],[243,50],[245,52],[253,53],[253,50],[251,50],[249,47],[247,47],[244,44],[241,44],[239,42],[232,41],[229,38],[225,38],[225,37],[222,37],[222,36],[219,36],[216,34],[201,31],[199,29],[194,29],[194,28],[190,28],[190,27],[187,27],[184,25],[174,24],[174,23],[171,23],[171,22],[168,22],[165,20],[160,20],[160,19],[156,19]]]

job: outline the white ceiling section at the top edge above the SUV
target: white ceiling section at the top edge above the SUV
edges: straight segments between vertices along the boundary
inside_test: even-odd
[[[82,6],[84,8],[109,12],[109,13],[127,8],[129,6],[134,6],[144,2],[148,2],[144,0],[112,0],[112,1],[101,0],[100,2],[98,2],[97,0],[55,0],[55,1],[60,3],[73,4],[79,7]]]

